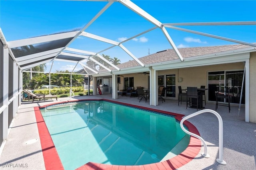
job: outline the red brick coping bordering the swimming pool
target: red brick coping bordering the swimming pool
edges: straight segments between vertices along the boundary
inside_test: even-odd
[[[39,136],[40,136],[40,142],[41,142],[42,153],[43,153],[43,157],[44,157],[44,164],[45,164],[46,170],[52,170],[52,169],[64,170],[64,167],[60,161],[60,157],[59,157],[57,150],[54,146],[54,143],[52,141],[52,138],[50,136],[48,128],[46,127],[46,124],[45,124],[42,114],[40,112],[40,108],[44,108],[44,107],[47,107],[50,105],[60,104],[60,103],[68,103],[68,102],[76,102],[76,101],[90,101],[90,100],[95,101],[95,99],[70,100],[70,101],[65,101],[65,102],[52,103],[52,104],[44,105],[41,107],[34,107],[36,123],[38,126],[38,132],[39,132]],[[174,115],[175,119],[177,119],[178,121],[181,121],[182,117],[184,116],[181,114],[161,111],[161,110],[157,110],[157,109],[150,109],[147,107],[141,107],[141,106],[131,105],[131,104],[127,104],[127,103],[121,103],[121,102],[112,101],[112,100],[108,100],[108,99],[98,99],[98,101],[110,101],[110,102],[119,103],[122,105],[128,105],[128,106],[132,106],[132,107],[138,107],[141,109],[147,109],[147,110],[151,110],[151,111]],[[192,125],[190,122],[184,121],[184,125],[186,125],[186,127],[188,128],[188,130],[190,132],[200,136],[196,127],[194,125]],[[87,164],[84,164],[83,166],[77,168],[77,170],[150,170],[150,169],[151,170],[175,170],[175,169],[180,168],[181,166],[187,164],[192,159],[194,159],[196,157],[196,155],[198,155],[200,150],[201,150],[201,141],[198,138],[190,136],[190,142],[188,144],[188,147],[179,155],[177,155],[169,160],[166,160],[166,161],[157,162],[157,163],[153,163],[153,164],[146,164],[146,165],[135,165],[135,166],[107,165],[107,164],[88,162]]]

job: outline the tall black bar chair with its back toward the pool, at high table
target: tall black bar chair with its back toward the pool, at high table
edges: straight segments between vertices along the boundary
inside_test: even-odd
[[[186,109],[188,108],[188,103],[190,107],[196,108],[196,111],[198,111],[198,98],[200,95],[200,91],[197,91],[197,87],[188,87],[187,88],[187,103],[186,103]],[[192,99],[196,99],[196,103],[192,101]],[[190,101],[191,100],[191,101]],[[199,103],[201,108],[201,104]]]

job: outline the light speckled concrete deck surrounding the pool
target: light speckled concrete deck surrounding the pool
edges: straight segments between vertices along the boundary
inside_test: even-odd
[[[73,98],[73,100],[89,98],[105,98],[122,103],[129,103],[141,107],[148,107],[182,115],[190,115],[191,113],[196,112],[196,109],[186,109],[185,103],[178,106],[178,101],[173,99],[166,99],[166,102],[160,102],[158,106],[150,106],[149,102],[145,103],[144,101],[139,103],[136,97],[130,98],[118,96],[118,99],[112,99],[112,95],[76,96]],[[68,100],[70,99],[58,99],[58,101]],[[34,103],[22,103],[13,123],[10,125],[8,140],[5,142],[4,147],[1,148],[2,154],[0,156],[0,169],[45,169],[34,107],[48,105],[50,103],[56,103],[56,101],[52,100],[46,102],[39,101]],[[205,107],[206,109],[215,110],[215,103],[206,103]],[[223,159],[227,162],[227,164],[220,165],[216,162],[216,158],[219,158],[218,119],[212,113],[203,113],[188,119],[188,121],[198,129],[200,136],[206,141],[210,158],[204,158],[201,156],[201,152],[204,152],[204,147],[202,146],[199,154],[192,161],[178,169],[255,170],[256,124],[244,122],[244,107],[241,107],[240,117],[238,117],[238,106],[231,106],[230,113],[228,113],[228,107],[220,106],[217,109],[217,112],[221,115],[223,120]],[[52,164],[54,165],[54,162],[52,162]],[[60,167],[56,165],[54,169],[58,168]],[[156,168],[162,169],[159,167]],[[124,167],[122,167],[122,169],[124,169]]]

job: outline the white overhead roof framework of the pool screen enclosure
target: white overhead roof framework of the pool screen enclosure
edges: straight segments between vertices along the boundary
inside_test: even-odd
[[[28,71],[28,69],[35,67],[40,64],[52,62],[52,65],[54,61],[68,61],[75,63],[77,65],[81,65],[82,68],[86,71],[86,73],[89,74],[98,74],[98,71],[95,68],[89,67],[86,65],[86,62],[91,60],[104,69],[111,72],[111,70],[102,65],[99,61],[94,59],[94,56],[99,57],[100,59],[104,60],[106,63],[108,63],[110,66],[114,67],[114,69],[120,71],[120,68],[118,68],[118,65],[112,64],[110,61],[106,60],[100,53],[103,51],[107,51],[109,49],[112,49],[113,47],[119,47],[122,49],[125,53],[127,53],[132,59],[134,59],[136,62],[139,63],[141,67],[145,67],[146,65],[142,63],[132,52],[130,52],[129,49],[125,47],[123,43],[128,42],[138,36],[141,36],[143,34],[146,34],[148,32],[151,32],[152,30],[159,29],[163,36],[166,38],[168,43],[171,45],[172,49],[174,49],[176,55],[180,59],[180,62],[184,61],[182,55],[180,54],[178,48],[176,47],[175,43],[173,42],[171,36],[169,35],[166,28],[171,28],[175,30],[180,30],[184,32],[189,32],[193,34],[198,34],[202,36],[208,36],[211,38],[217,38],[220,40],[226,40],[229,42],[234,43],[240,43],[244,45],[250,45],[256,47],[256,44],[254,43],[248,43],[243,42],[240,40],[234,40],[230,38],[225,38],[221,36],[216,36],[212,34],[206,34],[203,32],[197,32],[193,30],[188,30],[184,28],[179,28],[177,26],[217,26],[217,25],[256,25],[255,21],[249,21],[249,22],[197,22],[197,23],[162,23],[154,16],[151,16],[146,11],[144,11],[142,8],[131,2],[130,0],[90,0],[90,1],[100,1],[100,2],[107,2],[106,5],[93,17],[90,19],[88,23],[82,28],[82,29],[76,29],[71,32],[61,32],[58,34],[51,34],[46,36],[39,36],[34,38],[27,38],[22,40],[14,40],[7,42],[8,48],[10,49],[10,53],[13,54],[15,60],[17,61],[20,69],[22,71]],[[126,6],[128,9],[132,10],[144,20],[147,20],[152,24],[152,28],[145,30],[144,32],[141,32],[139,34],[136,34],[130,38],[127,38],[126,40],[123,40],[122,42],[117,42],[115,40],[110,40],[108,38],[105,38],[103,36],[98,36],[96,34],[91,34],[89,32],[86,32],[85,30],[90,27],[92,23],[94,23],[97,18],[99,18],[108,8],[116,2],[120,2],[123,6]],[[86,2],[84,2],[86,3]],[[118,27],[118,26],[117,26]],[[77,48],[72,48],[70,45],[74,40],[78,39],[79,37],[86,37],[90,38],[96,41],[104,42],[107,44],[110,44],[109,47],[103,48],[101,51],[85,51]],[[75,68],[74,68],[75,69]],[[74,69],[72,72],[74,72]],[[52,72],[52,66],[49,71],[49,73]]]

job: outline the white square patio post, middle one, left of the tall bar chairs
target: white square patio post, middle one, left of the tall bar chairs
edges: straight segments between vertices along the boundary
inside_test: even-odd
[[[150,67],[150,105],[158,105],[158,71]]]

